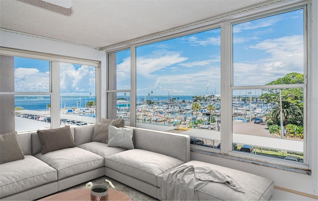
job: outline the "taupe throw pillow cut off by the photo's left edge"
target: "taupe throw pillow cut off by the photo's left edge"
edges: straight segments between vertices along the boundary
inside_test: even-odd
[[[24,159],[16,132],[0,134],[0,164]]]

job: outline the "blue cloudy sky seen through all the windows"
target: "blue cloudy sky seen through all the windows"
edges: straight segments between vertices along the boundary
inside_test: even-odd
[[[300,9],[234,24],[233,84],[264,85],[304,73],[303,23]],[[220,94],[220,58],[221,28],[139,46],[137,95]],[[117,89],[130,89],[130,50],[117,52],[116,59]],[[15,58],[14,65],[15,91],[49,91],[48,61]],[[60,71],[61,94],[95,95],[95,67],[61,63]]]

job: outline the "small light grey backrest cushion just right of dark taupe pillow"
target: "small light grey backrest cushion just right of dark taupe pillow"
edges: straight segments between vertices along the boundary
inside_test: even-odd
[[[75,145],[79,146],[91,142],[95,129],[95,124],[74,127]]]

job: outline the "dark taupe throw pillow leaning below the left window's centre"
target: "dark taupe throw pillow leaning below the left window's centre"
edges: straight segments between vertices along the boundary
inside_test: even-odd
[[[74,137],[70,126],[59,129],[39,130],[37,131],[41,145],[42,154],[59,149],[75,147]]]

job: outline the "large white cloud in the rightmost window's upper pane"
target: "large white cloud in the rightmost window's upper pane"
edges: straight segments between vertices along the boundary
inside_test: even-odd
[[[235,85],[263,85],[290,72],[304,73],[304,38],[301,35],[267,39],[249,48],[269,53],[258,61],[234,64]]]

